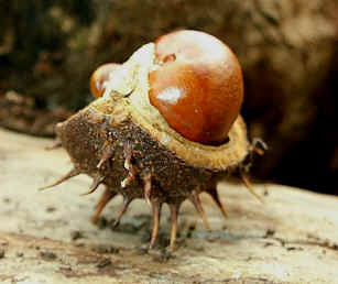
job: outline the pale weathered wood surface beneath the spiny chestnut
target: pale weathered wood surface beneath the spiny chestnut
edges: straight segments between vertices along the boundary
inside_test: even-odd
[[[74,177],[37,188],[70,168],[51,140],[0,130],[0,282],[3,283],[337,283],[338,199],[279,185],[257,185],[264,204],[243,186],[220,184],[228,219],[203,196],[211,231],[189,203],[181,209],[177,250],[144,254],[150,210],[131,204],[119,230],[90,223],[103,188]],[[264,195],[266,193],[266,195]],[[103,211],[117,216],[121,198]],[[167,241],[164,208],[160,240]],[[195,229],[194,229],[195,227]],[[119,252],[118,252],[119,250]],[[3,256],[2,256],[3,253]]]

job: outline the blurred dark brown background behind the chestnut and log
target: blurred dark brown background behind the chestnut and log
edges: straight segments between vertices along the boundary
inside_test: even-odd
[[[270,146],[252,175],[338,195],[336,0],[1,0],[0,26],[2,127],[53,135],[91,101],[97,66],[170,31],[200,30],[242,65],[242,114]]]

